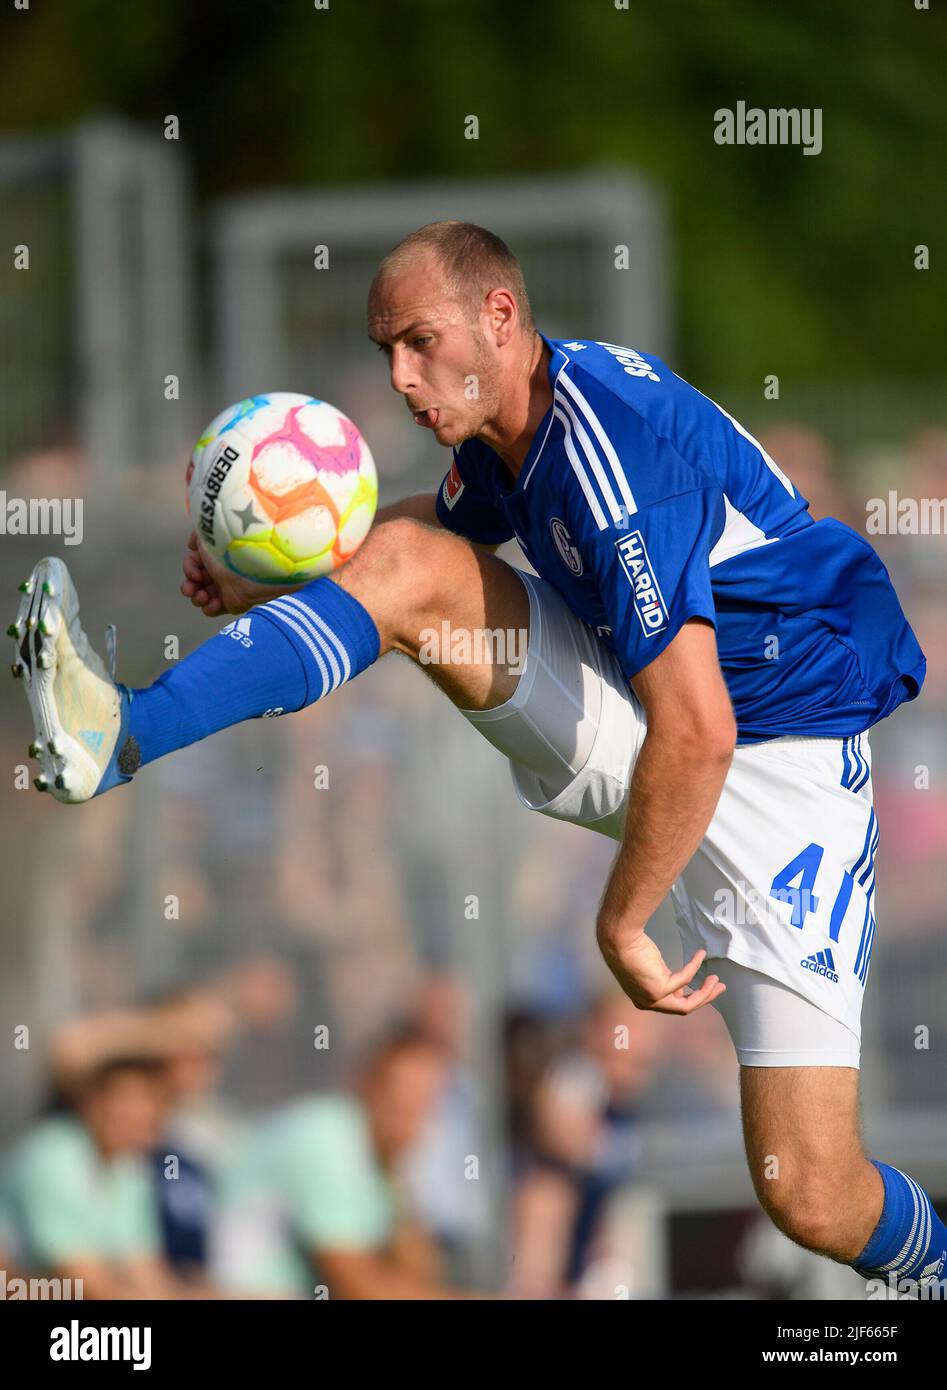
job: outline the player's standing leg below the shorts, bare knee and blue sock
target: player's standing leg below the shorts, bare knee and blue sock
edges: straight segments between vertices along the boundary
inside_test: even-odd
[[[763,1211],[797,1244],[865,1279],[937,1277],[947,1229],[897,1168],[869,1159],[844,1066],[741,1066],[747,1162]]]

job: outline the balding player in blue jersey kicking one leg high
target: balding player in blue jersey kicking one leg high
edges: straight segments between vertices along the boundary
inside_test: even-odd
[[[453,449],[439,491],[384,509],[338,574],[275,598],[192,537],[182,592],[209,617],[249,613],[252,641],[224,628],[143,689],[115,684],[65,566],[40,562],[13,628],[40,787],[86,801],[406,653],[510,760],[527,806],[619,841],[605,960],[640,1009],[723,1015],[779,1229],[866,1279],[933,1279],[947,1229],[912,1177],[866,1156],[858,1123],[868,730],[925,676],[887,571],[663,361],[537,332],[519,263],[483,228],[435,222],[396,246],[369,328],[414,421]],[[513,537],[540,577],[491,553]],[[528,632],[526,663],[488,641],[453,662],[431,642],[444,631]],[[679,970],[645,930],[669,892]]]

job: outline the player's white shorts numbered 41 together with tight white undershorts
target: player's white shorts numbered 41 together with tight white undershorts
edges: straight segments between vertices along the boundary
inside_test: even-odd
[[[622,838],[641,705],[617,657],[545,580],[513,696],[464,717],[510,760],[531,810]],[[877,820],[871,751],[851,738],[737,748],[704,841],[672,888],[684,960],[745,1066],[858,1066],[875,940]]]

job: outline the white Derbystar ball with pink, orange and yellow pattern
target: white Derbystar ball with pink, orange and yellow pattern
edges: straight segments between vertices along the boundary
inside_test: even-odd
[[[211,420],[186,481],[204,546],[261,584],[314,580],[345,564],[378,500],[374,460],[352,421],[289,391],[249,396]]]

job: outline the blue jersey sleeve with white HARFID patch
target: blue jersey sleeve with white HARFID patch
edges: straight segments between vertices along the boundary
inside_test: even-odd
[[[697,488],[654,502],[623,527],[587,534],[590,566],[629,680],[654,662],[690,619],[716,628],[709,555],[722,495]]]

